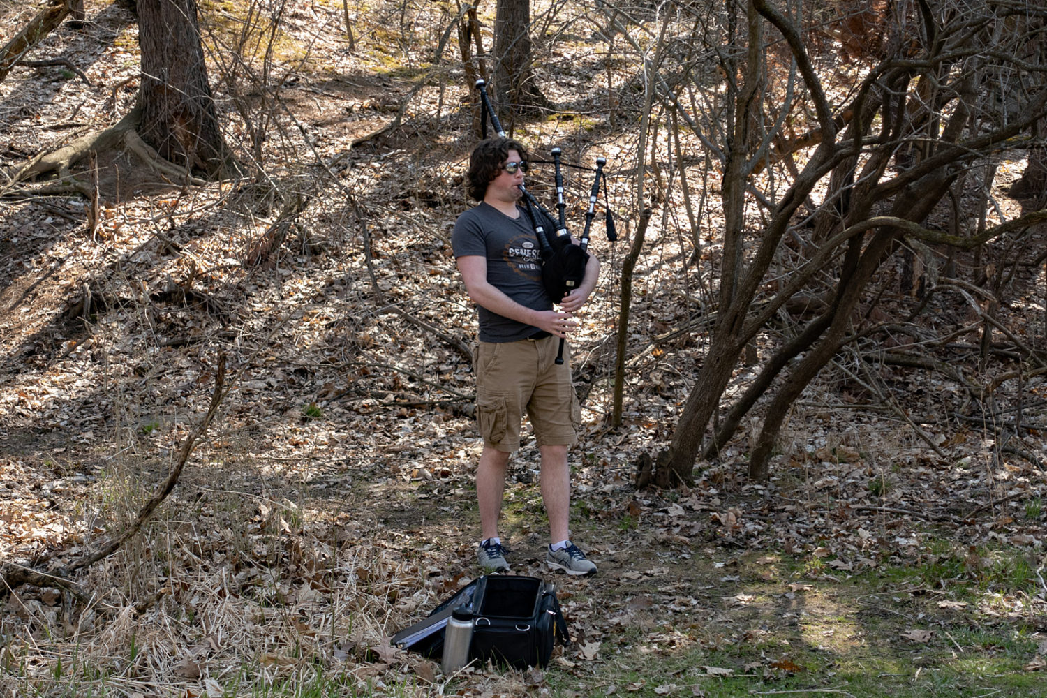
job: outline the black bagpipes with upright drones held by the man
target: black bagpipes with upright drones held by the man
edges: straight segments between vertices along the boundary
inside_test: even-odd
[[[480,90],[483,108],[481,129],[484,137],[487,137],[487,119],[490,118],[494,131],[500,137],[505,138],[506,132],[502,129],[498,116],[494,113],[494,109],[491,106],[491,98],[487,94],[487,83],[483,80],[477,80],[476,89]],[[545,293],[556,303],[559,303],[567,293],[577,289],[585,277],[585,265],[589,258],[588,252],[585,250],[588,247],[589,228],[593,225],[593,219],[596,217],[596,202],[600,196],[601,180],[604,182],[604,201],[606,202],[607,200],[606,176],[603,174],[603,166],[607,163],[605,158],[596,159],[596,168],[583,165],[569,165],[578,170],[587,170],[596,173],[596,178],[593,180],[593,188],[589,190],[588,208],[585,211],[585,227],[576,244],[567,231],[565,221],[567,205],[563,198],[563,163],[560,160],[561,153],[562,151],[559,148],[554,148],[550,151],[550,154],[553,156],[556,180],[557,216],[555,220],[553,215],[531,196],[531,193],[522,184],[519,187],[520,193],[524,195],[525,210],[527,210],[528,218],[531,220],[531,226],[538,238],[538,245],[541,247],[541,284],[545,288]],[[545,161],[536,160],[536,162]],[[615,221],[610,215],[609,206],[605,206],[604,220],[606,222],[607,240],[615,242],[618,240],[618,233],[615,229]],[[547,231],[547,225],[555,226],[555,230]],[[549,234],[550,232],[553,232],[553,234]],[[556,363],[563,363],[562,338],[560,339],[559,352],[556,355]]]

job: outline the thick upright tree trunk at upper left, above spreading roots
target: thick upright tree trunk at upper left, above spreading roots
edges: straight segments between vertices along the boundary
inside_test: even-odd
[[[224,176],[233,165],[207,84],[196,0],[139,0],[138,18],[142,140],[186,171]]]

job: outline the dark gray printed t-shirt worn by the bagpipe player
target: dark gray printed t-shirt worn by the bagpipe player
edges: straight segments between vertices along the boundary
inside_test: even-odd
[[[531,219],[519,206],[511,219],[494,206],[481,202],[459,217],[451,233],[454,257],[483,256],[487,260],[487,282],[519,305],[532,310],[552,310],[553,303],[541,285],[538,237]],[[480,339],[485,342],[514,342],[530,337],[538,328],[480,308]]]

